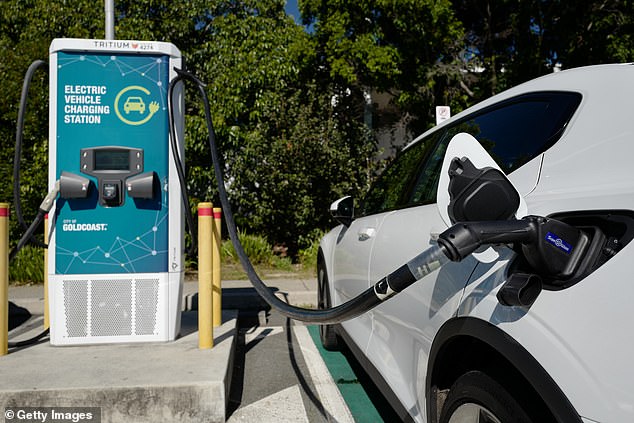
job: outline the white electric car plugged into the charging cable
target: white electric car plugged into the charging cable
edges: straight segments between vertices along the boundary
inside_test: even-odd
[[[322,326],[322,343],[344,341],[404,421],[634,422],[634,65],[553,73],[418,137],[359,207],[333,203],[342,224],[320,244],[320,307],[354,298],[453,223],[436,198],[459,133],[489,152],[529,215],[587,235],[583,265],[553,276],[517,244],[496,245]],[[505,304],[498,294],[520,274],[543,289]]]

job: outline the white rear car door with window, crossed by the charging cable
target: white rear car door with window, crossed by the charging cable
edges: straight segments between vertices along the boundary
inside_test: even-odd
[[[435,201],[450,135],[443,131],[436,138],[440,138],[437,148],[421,166],[422,171],[419,169],[405,200],[406,204],[420,205],[390,213],[376,234],[369,270],[373,280],[435,244],[436,235],[447,228]],[[446,264],[369,313],[372,336],[366,355],[410,413],[417,413],[416,392],[423,389],[425,381],[424,374],[417,374],[425,367],[419,368],[417,363],[426,361],[425,352],[429,351],[437,328],[454,315],[465,275],[468,277],[475,266],[473,258]]]

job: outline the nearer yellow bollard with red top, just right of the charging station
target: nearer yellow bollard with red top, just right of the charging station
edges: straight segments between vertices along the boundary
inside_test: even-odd
[[[212,326],[212,226],[211,203],[198,204],[198,348],[214,346]]]

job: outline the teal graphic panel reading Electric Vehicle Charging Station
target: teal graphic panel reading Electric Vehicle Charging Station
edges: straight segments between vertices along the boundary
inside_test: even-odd
[[[57,65],[56,177],[75,173],[91,187],[87,199],[57,201],[55,273],[166,272],[169,57],[59,52]],[[80,150],[92,147],[142,149],[154,197],[123,192],[122,205],[103,205],[97,177],[80,169]],[[121,171],[120,160],[96,167],[109,165]]]

